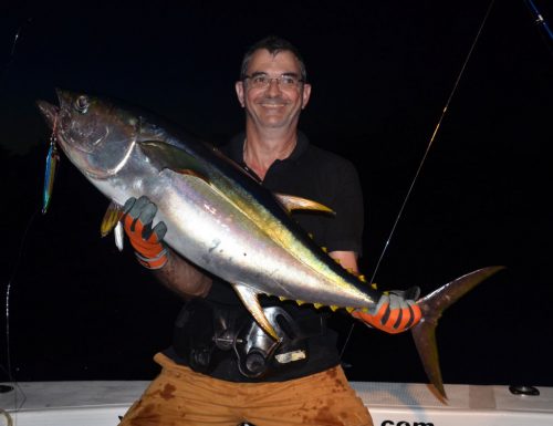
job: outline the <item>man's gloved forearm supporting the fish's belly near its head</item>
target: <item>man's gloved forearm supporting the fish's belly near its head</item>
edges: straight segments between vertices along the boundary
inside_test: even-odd
[[[164,222],[152,227],[157,212],[156,205],[147,197],[129,198],[123,211],[123,227],[138,262],[150,269],[165,287],[182,298],[206,297],[211,289],[211,278],[163,242],[167,232]]]

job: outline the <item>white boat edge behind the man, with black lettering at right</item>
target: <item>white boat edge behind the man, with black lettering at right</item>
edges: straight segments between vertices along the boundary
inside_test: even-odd
[[[22,382],[0,393],[0,426],[115,426],[148,382]],[[375,426],[552,426],[553,387],[446,385],[448,404],[411,383],[352,382]]]

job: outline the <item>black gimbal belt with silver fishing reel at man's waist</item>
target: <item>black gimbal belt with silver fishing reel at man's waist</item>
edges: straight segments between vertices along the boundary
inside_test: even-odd
[[[200,373],[208,374],[222,359],[236,356],[242,375],[261,377],[271,370],[305,362],[309,359],[307,339],[326,331],[323,315],[296,319],[281,306],[268,306],[263,311],[281,337],[279,342],[251,315],[194,299],[177,319],[174,349]]]

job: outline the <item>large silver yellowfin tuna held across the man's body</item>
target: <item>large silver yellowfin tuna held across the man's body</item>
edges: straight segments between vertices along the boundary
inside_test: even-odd
[[[292,220],[290,210],[327,208],[271,194],[216,148],[159,121],[86,94],[58,91],[60,107],[39,101],[70,160],[115,206],[147,196],[165,221],[165,241],[179,254],[231,283],[271,336],[278,334],[258,294],[316,308],[373,309],[382,292],[347,272]],[[54,123],[58,123],[56,126]],[[118,222],[109,208],[103,232]],[[422,364],[440,395],[435,328],[441,312],[501,267],[483,268],[417,303],[414,328]]]

